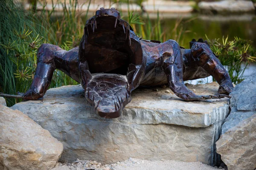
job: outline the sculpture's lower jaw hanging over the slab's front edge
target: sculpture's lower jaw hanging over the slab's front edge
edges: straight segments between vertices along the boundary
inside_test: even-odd
[[[117,118],[131,101],[129,86],[124,75],[96,74],[86,85],[85,97],[99,116]]]

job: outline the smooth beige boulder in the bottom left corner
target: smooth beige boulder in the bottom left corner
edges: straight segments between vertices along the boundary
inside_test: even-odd
[[[0,170],[51,170],[62,150],[48,130],[0,105]]]

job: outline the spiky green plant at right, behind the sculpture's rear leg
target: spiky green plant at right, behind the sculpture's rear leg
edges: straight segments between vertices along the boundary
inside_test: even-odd
[[[223,37],[222,41],[219,39],[209,40],[207,37],[207,41],[212,52],[220,59],[221,64],[227,67],[232,82],[238,84],[243,81],[242,77],[247,65],[256,61],[256,51],[250,45],[251,42],[239,37],[235,37],[231,41],[228,41],[228,37]]]

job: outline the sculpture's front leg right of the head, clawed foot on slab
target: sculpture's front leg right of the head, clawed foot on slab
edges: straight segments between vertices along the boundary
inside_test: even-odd
[[[180,46],[174,40],[160,45],[163,54],[163,70],[167,76],[169,88],[181,99],[192,101],[219,98],[219,96],[198,96],[187,88],[183,82],[183,58]]]

